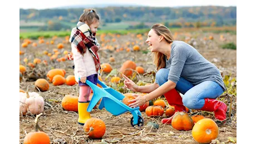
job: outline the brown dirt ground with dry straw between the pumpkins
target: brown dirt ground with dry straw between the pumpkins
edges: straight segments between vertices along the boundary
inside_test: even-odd
[[[213,36],[213,40],[204,40],[204,38],[209,38]],[[225,41],[220,40],[220,35],[223,35],[226,39]],[[100,38],[100,36],[98,36]],[[99,39],[98,38],[98,39]],[[116,40],[112,39],[115,38]],[[136,35],[121,35],[117,37],[116,35],[106,35],[105,40],[109,39],[110,42],[105,43],[105,46],[102,47],[99,52],[101,63],[110,63],[113,69],[120,69],[121,64],[124,63],[127,59],[132,59],[136,62],[137,66],[142,66],[146,72],[150,72],[155,69],[154,64],[150,56],[150,52],[146,53],[147,45],[144,43],[146,36],[142,35],[142,40],[139,40]],[[177,35],[176,39],[178,40],[187,40],[186,42],[192,44],[206,59],[214,63],[224,75],[231,75],[232,78],[237,76],[237,50],[232,49],[222,49],[221,44],[234,42],[237,44],[237,35],[231,35],[229,33],[180,33]],[[51,39],[45,39],[45,42],[50,42]],[[72,61],[66,60],[57,62],[56,60],[51,61],[50,57],[43,54],[43,50],[52,52],[53,49],[57,49],[58,43],[63,43],[64,38],[56,38],[55,44],[38,44],[37,47],[32,47],[32,44],[29,44],[27,48],[19,48],[25,53],[19,55],[20,63],[24,64],[23,59],[27,58],[28,62],[33,63],[34,58],[40,58],[42,60],[47,60],[48,65],[38,64],[33,69],[34,71],[41,71],[40,73],[43,76],[46,76],[48,70],[52,68],[62,68],[66,70],[66,75],[73,75]],[[126,45],[126,42],[135,42],[138,41],[141,50],[139,52],[134,52],[132,49],[130,52],[123,50],[122,52],[116,52],[116,50],[107,49],[106,45],[112,45],[112,47],[129,47]],[[23,40],[20,40],[20,45]],[[32,40],[32,43],[38,43],[38,40]],[[64,44],[63,49],[58,49],[60,52],[59,55],[63,55],[64,50],[71,50],[70,44]],[[110,56],[114,56],[115,62],[110,62]],[[32,71],[32,69],[30,69]],[[27,66],[27,71],[29,68]],[[38,72],[39,73],[39,72]],[[35,81],[28,81],[26,78],[27,75],[23,75],[23,79],[20,81],[20,89],[28,91],[38,92],[33,84]],[[102,79],[106,84],[109,84],[109,79],[105,79],[107,74],[102,74]],[[46,78],[46,77],[45,77]],[[152,78],[149,76],[137,76],[138,79],[142,81],[150,82]],[[123,81],[123,79],[121,80]],[[31,86],[28,86],[31,85]],[[39,92],[38,92],[39,93]],[[105,109],[93,109],[91,111],[91,117],[97,117],[105,122],[106,132],[102,137],[102,140],[92,140],[85,135],[81,125],[77,124],[78,113],[73,111],[66,111],[62,109],[61,100],[63,96],[71,94],[77,95],[77,85],[68,86],[60,85],[54,86],[50,83],[50,89],[45,92],[40,92],[40,95],[45,99],[45,107],[43,115],[40,116],[38,120],[38,125],[50,136],[51,143],[183,143],[183,144],[196,144],[196,142],[191,135],[191,131],[178,131],[175,130],[171,125],[161,124],[161,119],[166,117],[165,115],[161,117],[148,117],[145,112],[142,113],[144,118],[144,126],[142,127],[132,127],[130,120],[132,115],[127,112],[118,116],[112,115],[109,111]],[[229,107],[227,115],[229,115],[230,110],[230,97],[229,95],[222,95],[227,100],[227,105]],[[55,101],[53,101],[55,100]],[[236,125],[236,111],[237,111],[236,96],[232,99],[232,111],[231,116],[227,117],[227,122],[225,124],[219,125],[219,136],[212,143],[236,143],[232,142],[237,137],[237,125]],[[212,112],[203,112],[203,111],[194,111],[190,110],[189,114],[198,114],[204,115],[205,117],[213,118],[214,115]],[[19,141],[23,143],[26,133],[32,132],[35,129],[35,116],[21,116],[19,115]],[[147,122],[156,121],[159,124],[158,130],[151,130],[146,127]],[[104,142],[101,142],[104,141]]]

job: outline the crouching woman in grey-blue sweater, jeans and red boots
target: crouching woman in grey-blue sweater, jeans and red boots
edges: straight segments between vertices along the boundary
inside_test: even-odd
[[[189,109],[214,111],[219,121],[226,119],[227,105],[215,100],[226,90],[223,78],[216,66],[206,60],[195,48],[185,42],[174,40],[170,30],[162,24],[155,24],[147,35],[152,58],[157,68],[155,83],[138,86],[124,76],[125,88],[135,92],[148,93],[136,95],[130,107],[144,105],[146,101],[164,95],[175,111]],[[179,92],[184,96],[181,97]],[[171,119],[163,123],[171,124]]]

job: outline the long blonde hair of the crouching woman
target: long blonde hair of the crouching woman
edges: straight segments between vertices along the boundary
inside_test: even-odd
[[[174,41],[173,34],[169,28],[165,27],[163,24],[154,24],[151,29],[155,31],[157,35],[162,35],[166,42],[171,43]],[[165,55],[160,52],[153,52],[152,59],[156,65],[157,71],[161,68],[165,68]]]

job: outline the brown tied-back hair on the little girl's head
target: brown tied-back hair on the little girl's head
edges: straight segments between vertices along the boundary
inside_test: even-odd
[[[86,22],[88,25],[91,25],[95,20],[100,20],[100,17],[94,9],[84,9],[79,18],[80,22]]]

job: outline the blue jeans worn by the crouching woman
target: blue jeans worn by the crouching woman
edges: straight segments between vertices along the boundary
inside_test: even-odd
[[[160,69],[156,73],[156,80],[159,86],[168,81],[169,69]],[[215,81],[203,81],[198,85],[193,85],[190,81],[180,77],[180,80],[175,87],[181,94],[183,94],[183,105],[189,109],[201,109],[204,106],[204,99],[216,99],[223,94],[223,89]]]

